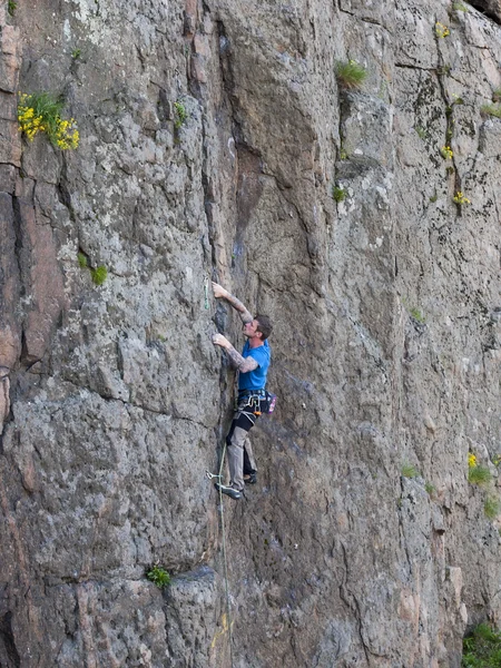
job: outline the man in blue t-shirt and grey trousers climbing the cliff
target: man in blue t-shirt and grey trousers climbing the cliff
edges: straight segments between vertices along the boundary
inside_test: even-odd
[[[226,351],[229,360],[238,369],[238,402],[232,426],[226,436],[229,485],[216,483],[216,489],[232,499],[239,499],[245,483],[256,482],[254,461],[248,432],[255,425],[266,402],[266,374],[272,351],[267,337],[272,325],[266,315],[250,315],[247,308],[227,289],[213,282],[214,296],[226,299],[240,315],[244,323],[244,336],[247,338],[242,355],[233,347],[226,336],[214,334],[213,343]]]

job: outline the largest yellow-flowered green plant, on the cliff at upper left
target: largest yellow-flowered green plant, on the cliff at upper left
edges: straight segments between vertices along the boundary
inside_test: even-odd
[[[18,104],[19,131],[30,141],[45,132],[52,146],[67,150],[77,148],[80,135],[75,118],[61,118],[63,100],[50,92],[21,94]]]

